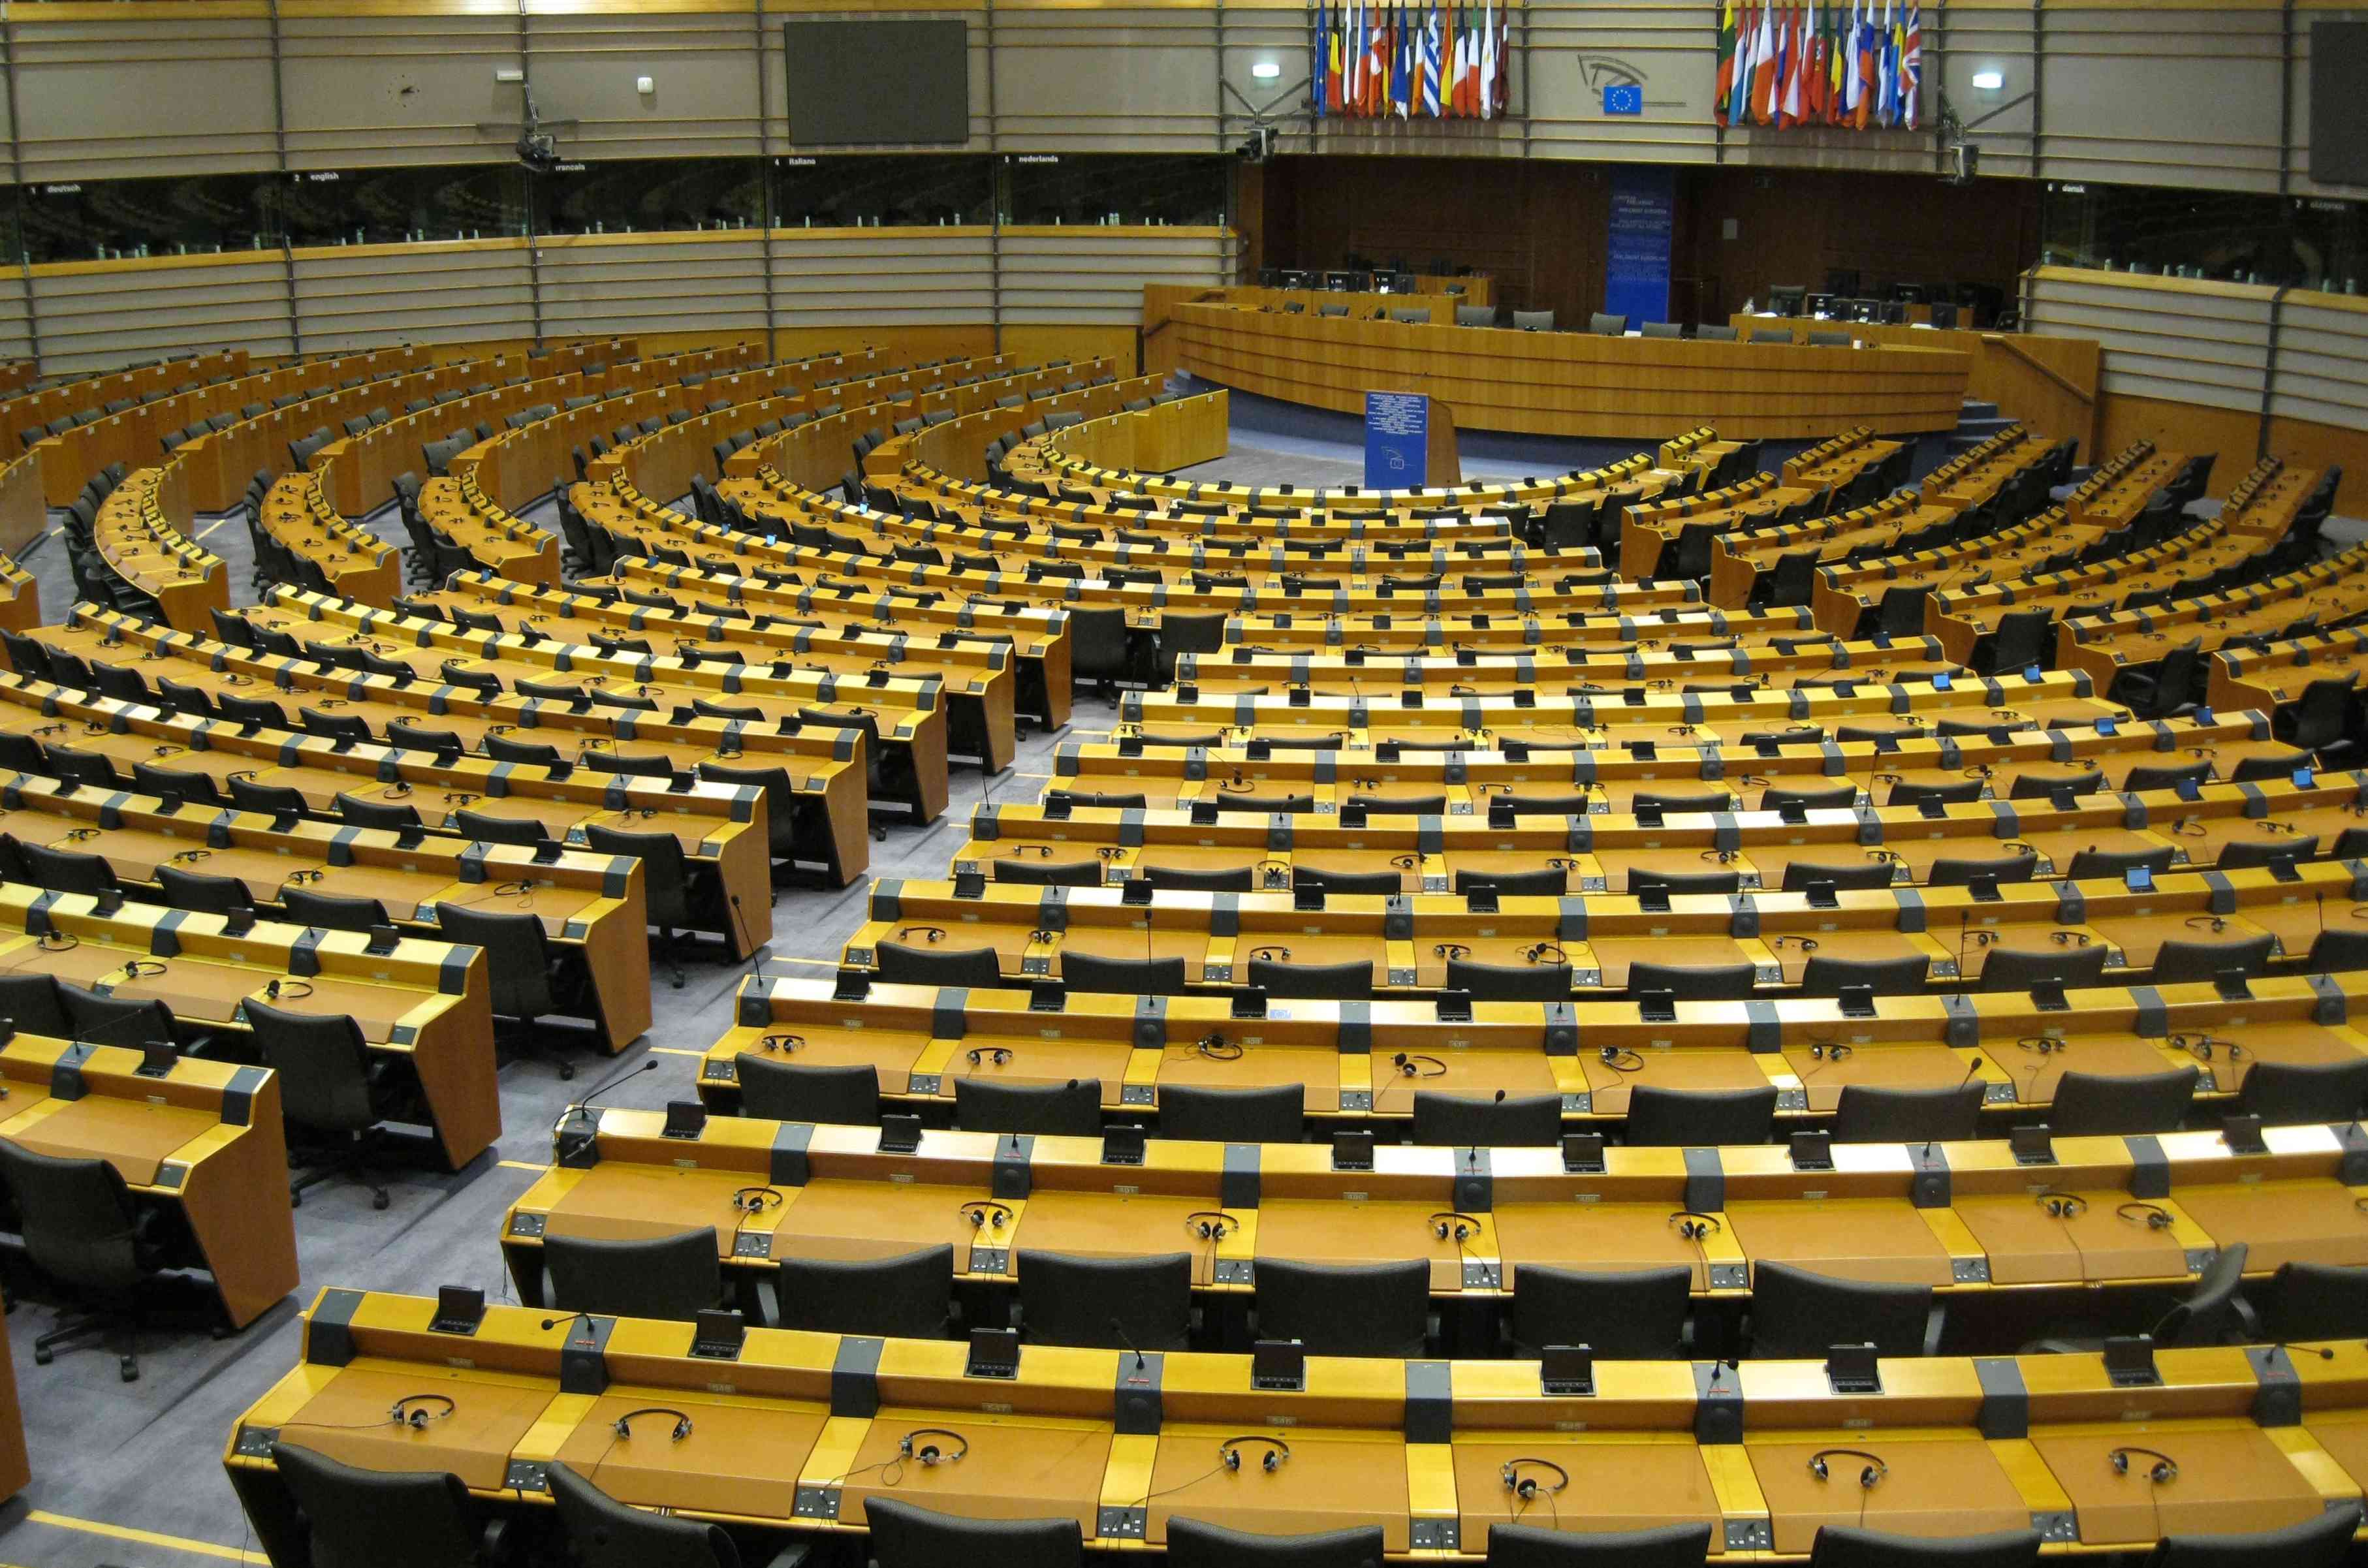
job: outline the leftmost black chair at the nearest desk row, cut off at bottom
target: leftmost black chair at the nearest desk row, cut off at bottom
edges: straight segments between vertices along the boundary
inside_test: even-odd
[[[296,1442],[272,1442],[272,1466],[324,1568],[490,1568],[502,1556],[502,1530],[478,1518],[459,1476],[360,1469]]]

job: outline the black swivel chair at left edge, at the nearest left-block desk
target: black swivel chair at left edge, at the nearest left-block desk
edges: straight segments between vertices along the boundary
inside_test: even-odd
[[[126,1383],[137,1381],[140,1286],[161,1267],[163,1246],[123,1172],[107,1161],[57,1158],[0,1139],[0,1182],[17,1201],[17,1227],[33,1267],[88,1296],[95,1307],[36,1338],[33,1360],[47,1367],[57,1345],[126,1324],[133,1341],[116,1357],[116,1374]]]

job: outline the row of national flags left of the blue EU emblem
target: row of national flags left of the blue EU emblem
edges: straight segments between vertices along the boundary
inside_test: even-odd
[[[1511,97],[1497,0],[1317,0],[1307,76],[1317,118],[1489,121]]]

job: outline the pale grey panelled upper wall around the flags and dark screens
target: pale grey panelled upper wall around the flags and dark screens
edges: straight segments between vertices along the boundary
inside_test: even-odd
[[[497,85],[495,71],[523,62],[545,114],[583,121],[571,154],[789,149],[781,9],[696,5],[635,12],[632,0],[556,0],[521,17],[431,0],[422,9],[436,14],[308,9],[277,24],[147,0],[99,19],[71,7],[62,21],[40,5],[12,7],[19,123],[0,133],[17,135],[12,152],[36,180],[272,168],[282,128],[291,168],[504,159],[507,140],[481,135],[476,121],[516,116],[519,92]],[[1272,109],[1283,152],[1932,166],[1930,133],[1722,133],[1710,118],[1717,9],[1707,2],[1539,0],[1513,19],[1520,118],[1328,121],[1314,135],[1300,114],[1305,5],[980,0],[952,9],[971,17],[971,147],[980,152],[1212,152]],[[1949,90],[1963,118],[1989,116],[1975,137],[1991,173],[2309,192],[2299,144],[2314,14],[2342,12],[1928,5],[1928,81]],[[1265,59],[1281,66],[1272,83],[1250,76]],[[2003,73],[2003,88],[1975,90],[1982,69]],[[639,95],[637,76],[656,78],[656,92]],[[1606,118],[1608,81],[1641,81],[1646,114]]]

